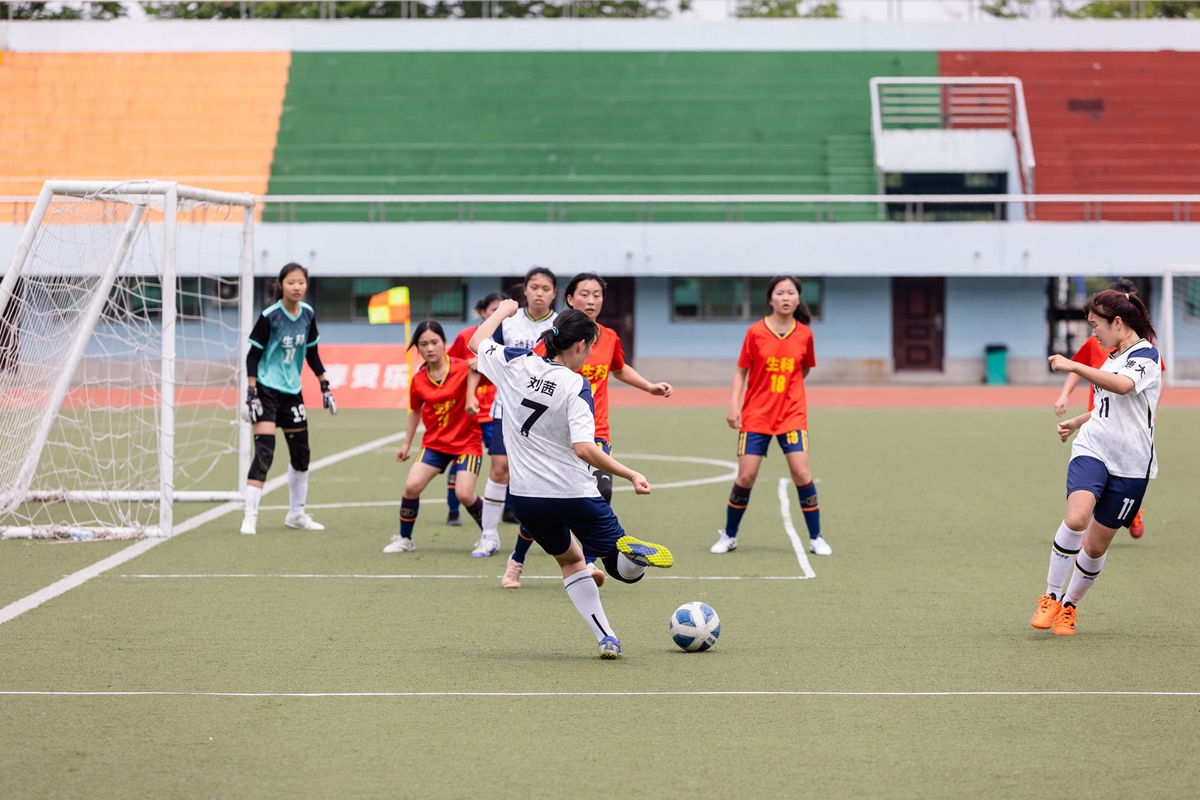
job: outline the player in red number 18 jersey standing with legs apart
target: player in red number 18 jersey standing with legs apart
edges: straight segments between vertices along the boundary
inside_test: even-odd
[[[830,555],[833,548],[821,537],[821,506],[809,469],[809,421],[804,378],[816,366],[812,351],[812,314],[800,300],[800,281],[788,276],[767,284],[770,313],[746,331],[733,373],[733,395],[725,421],[738,435],[738,479],[730,492],[725,529],[710,552],[737,549],[738,527],[750,503],[750,489],[758,468],[775,437],[787,458],[796,492],[800,498],[804,523],[809,528],[809,551]],[[749,379],[749,384],[748,384]]]

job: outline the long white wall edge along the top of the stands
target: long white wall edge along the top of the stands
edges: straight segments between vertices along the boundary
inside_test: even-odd
[[[625,19],[12,22],[16,53],[1200,52],[1200,20]]]

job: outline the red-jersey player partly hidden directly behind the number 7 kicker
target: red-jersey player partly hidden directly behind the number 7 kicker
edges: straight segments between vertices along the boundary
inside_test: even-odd
[[[596,321],[600,311],[604,308],[604,294],[607,288],[608,285],[605,283],[605,279],[595,272],[581,272],[566,284],[564,297],[570,308],[582,311],[600,330],[599,338],[592,345],[592,355],[580,367],[578,373],[592,384],[592,401],[596,421],[596,446],[604,450],[605,453],[612,455],[612,440],[610,439],[611,433],[608,427],[608,377],[611,375],[655,397],[671,397],[674,387],[671,384],[652,384],[641,373],[625,363],[625,351],[620,347],[620,337],[617,336],[617,331]],[[533,351],[544,356],[546,355],[546,345],[539,343],[534,347]],[[612,503],[612,475],[599,469],[592,474],[595,475],[600,497],[607,503]],[[516,547],[512,549],[512,555],[509,557],[508,569],[500,579],[500,585],[505,589],[521,588],[521,571],[524,569],[526,553],[529,552],[532,545],[532,539],[526,539],[521,531],[517,531]],[[592,569],[592,577],[595,579],[596,585],[604,585],[605,576],[595,566],[595,559],[589,560],[588,566]]]

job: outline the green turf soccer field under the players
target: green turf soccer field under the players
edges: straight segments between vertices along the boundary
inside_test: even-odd
[[[774,446],[712,555],[724,411],[612,416],[617,457],[694,483],[613,498],[676,555],[601,590],[625,657],[595,657],[539,548],[500,589],[515,528],[468,558],[440,483],[416,552],[384,555],[408,470],[388,445],[313,473],[323,533],[264,510],[240,536],[235,511],[0,625],[0,798],[1200,795],[1200,410],[1160,411],[1146,535],[1118,533],[1069,638],[1028,624],[1069,456],[1050,410],[814,411],[834,554],[812,579]],[[314,458],[403,425],[313,415]],[[0,606],[124,547],[0,542]],[[690,600],[721,616],[709,652],[667,636]]]

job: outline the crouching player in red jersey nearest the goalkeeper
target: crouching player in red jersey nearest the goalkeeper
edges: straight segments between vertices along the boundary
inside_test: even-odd
[[[425,365],[416,371],[408,387],[408,435],[396,461],[408,461],[416,426],[425,423],[425,438],[416,463],[408,470],[404,497],[400,501],[400,534],[391,537],[384,553],[416,549],[413,525],[421,507],[421,492],[436,475],[451,463],[458,464],[458,499],[476,523],[482,525],[484,501],[475,495],[475,481],[484,463],[484,439],[475,414],[479,413],[479,373],[462,359],[446,355],[446,335],[442,325],[426,319],[416,325],[409,347],[415,347]],[[472,555],[475,555],[472,553]],[[488,553],[491,555],[491,553]]]

